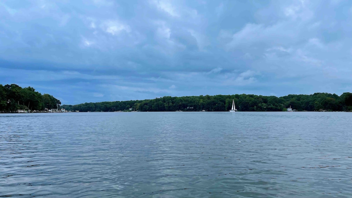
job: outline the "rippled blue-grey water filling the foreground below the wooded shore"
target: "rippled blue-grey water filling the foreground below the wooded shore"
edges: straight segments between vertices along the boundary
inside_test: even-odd
[[[0,115],[0,197],[352,197],[352,113]]]

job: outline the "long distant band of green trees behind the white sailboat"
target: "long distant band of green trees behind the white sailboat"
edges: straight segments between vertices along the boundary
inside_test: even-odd
[[[314,93],[311,95],[287,95],[284,97],[252,94],[235,95],[200,95],[170,97],[164,96],[151,100],[130,100],[101,103],[84,103],[63,105],[68,111],[228,111],[235,101],[239,111],[286,111],[287,107],[298,111],[315,111],[327,109],[331,111],[351,111],[352,93],[338,96],[330,93]]]

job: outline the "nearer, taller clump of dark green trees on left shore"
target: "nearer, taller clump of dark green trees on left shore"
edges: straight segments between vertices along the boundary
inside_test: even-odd
[[[0,111],[44,110],[57,109],[61,105],[60,100],[52,95],[42,95],[33,87],[22,88],[18,85],[0,85]]]

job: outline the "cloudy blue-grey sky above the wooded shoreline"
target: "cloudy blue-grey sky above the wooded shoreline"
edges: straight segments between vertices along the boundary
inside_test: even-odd
[[[62,104],[352,92],[352,1],[1,0],[0,84]]]

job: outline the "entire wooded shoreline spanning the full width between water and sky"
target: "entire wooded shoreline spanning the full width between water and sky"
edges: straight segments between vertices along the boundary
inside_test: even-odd
[[[331,93],[310,95],[263,96],[254,94],[199,95],[171,97],[164,96],[146,100],[106,101],[61,105],[61,101],[49,94],[36,92],[33,87],[22,88],[18,85],[0,85],[0,112],[172,112],[202,111],[225,112],[233,106],[238,111],[352,111],[352,93],[340,96]]]

